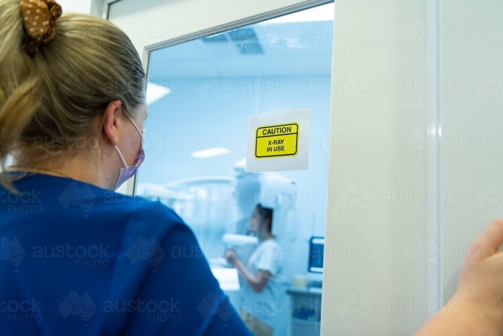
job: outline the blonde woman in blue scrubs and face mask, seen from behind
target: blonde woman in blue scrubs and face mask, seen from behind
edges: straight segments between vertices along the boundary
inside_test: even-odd
[[[133,44],[60,15],[0,0],[0,333],[249,335],[182,219],[114,192],[144,158]]]

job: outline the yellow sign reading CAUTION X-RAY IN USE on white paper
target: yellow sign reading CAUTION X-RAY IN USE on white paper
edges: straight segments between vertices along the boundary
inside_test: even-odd
[[[255,132],[255,157],[296,156],[299,148],[299,124],[291,122],[260,126]]]

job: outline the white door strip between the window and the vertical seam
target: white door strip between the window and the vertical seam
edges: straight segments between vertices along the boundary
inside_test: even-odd
[[[411,133],[426,139],[427,104],[424,94],[388,92],[428,81],[426,44],[403,36],[416,17],[426,19],[424,2],[336,2],[336,34],[349,32],[333,43],[330,133],[348,140],[330,150],[323,335],[412,334],[425,321],[425,312],[386,306],[429,299],[426,261],[404,256],[416,237],[427,240],[430,154],[407,141]],[[381,34],[361,37],[354,27]],[[404,200],[414,191],[421,199]]]

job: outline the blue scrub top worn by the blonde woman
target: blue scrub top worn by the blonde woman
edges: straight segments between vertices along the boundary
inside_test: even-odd
[[[160,202],[29,174],[0,186],[5,335],[251,335]]]

